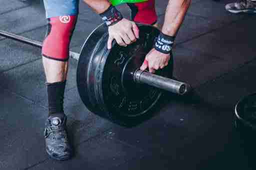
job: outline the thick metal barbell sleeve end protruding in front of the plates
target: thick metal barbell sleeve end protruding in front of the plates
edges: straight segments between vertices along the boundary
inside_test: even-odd
[[[179,95],[183,95],[190,90],[190,86],[186,83],[151,74],[149,72],[141,70],[137,70],[134,73],[134,81],[136,83],[145,83],[150,86],[167,90]]]

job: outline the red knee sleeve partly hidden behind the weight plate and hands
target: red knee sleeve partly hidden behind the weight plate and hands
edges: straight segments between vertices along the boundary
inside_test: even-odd
[[[133,13],[132,19],[135,22],[154,24],[157,20],[154,0],[134,3],[131,7],[131,13]]]

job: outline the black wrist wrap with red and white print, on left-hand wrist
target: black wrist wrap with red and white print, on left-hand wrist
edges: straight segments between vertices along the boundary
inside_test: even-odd
[[[113,25],[123,18],[122,14],[112,5],[99,15],[107,26]]]

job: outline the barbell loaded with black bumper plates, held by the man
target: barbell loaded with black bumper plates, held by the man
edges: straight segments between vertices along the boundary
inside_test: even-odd
[[[139,39],[127,47],[112,43],[106,47],[108,31],[102,23],[86,38],[80,54],[70,51],[78,60],[76,83],[79,96],[92,113],[120,125],[134,124],[148,117],[163,90],[183,95],[190,90],[186,83],[173,80],[173,56],[169,64],[155,74],[139,69],[152,49],[159,30],[138,24]],[[41,47],[42,43],[0,30],[0,35]]]

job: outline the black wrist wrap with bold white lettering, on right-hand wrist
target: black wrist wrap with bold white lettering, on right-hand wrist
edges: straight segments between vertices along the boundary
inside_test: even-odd
[[[154,49],[162,53],[169,54],[171,52],[174,39],[174,36],[165,35],[160,32],[158,37],[155,39]]]

